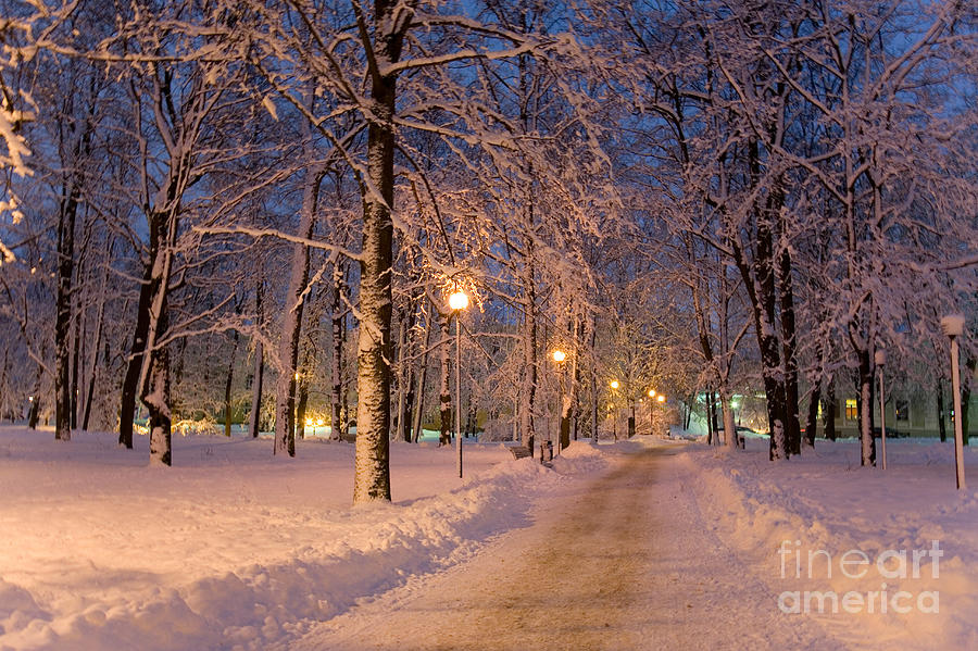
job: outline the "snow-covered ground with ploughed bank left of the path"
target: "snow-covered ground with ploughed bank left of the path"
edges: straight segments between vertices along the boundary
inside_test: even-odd
[[[0,649],[262,649],[436,572],[529,523],[532,500],[605,455],[553,470],[501,445],[393,445],[393,504],[347,506],[352,447],[186,437],[173,468],[112,435],[0,428]]]

